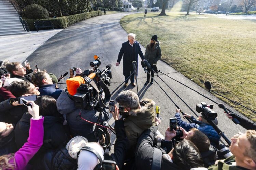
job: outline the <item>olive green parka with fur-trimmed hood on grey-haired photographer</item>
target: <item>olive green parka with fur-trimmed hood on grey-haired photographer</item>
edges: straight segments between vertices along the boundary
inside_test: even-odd
[[[155,124],[155,102],[151,99],[143,99],[147,104],[141,103],[140,109],[133,109],[124,119],[125,134],[129,141],[129,146],[136,146],[137,139],[142,132]]]

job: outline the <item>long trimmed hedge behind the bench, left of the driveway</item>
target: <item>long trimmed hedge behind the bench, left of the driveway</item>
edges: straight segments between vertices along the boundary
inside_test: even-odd
[[[24,19],[24,20],[27,21],[30,30],[34,31],[34,30],[36,30],[35,26],[34,26],[35,21],[51,21],[54,29],[58,29],[58,28],[66,28],[76,22],[79,22],[79,21],[82,21],[82,20],[85,20],[85,19],[88,19],[91,17],[96,17],[99,15],[102,15],[102,11],[91,11],[91,12],[86,12],[86,13],[81,13],[81,14],[58,17],[58,18],[49,18],[49,19],[40,19],[40,20]]]

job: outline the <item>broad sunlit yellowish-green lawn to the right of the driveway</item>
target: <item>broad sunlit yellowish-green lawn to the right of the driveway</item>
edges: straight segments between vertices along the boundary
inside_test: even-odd
[[[255,20],[185,16],[181,12],[158,14],[128,15],[120,23],[128,33],[135,33],[144,47],[157,34],[163,61],[201,87],[209,80],[214,91],[256,110]],[[220,99],[256,121],[256,114]]]

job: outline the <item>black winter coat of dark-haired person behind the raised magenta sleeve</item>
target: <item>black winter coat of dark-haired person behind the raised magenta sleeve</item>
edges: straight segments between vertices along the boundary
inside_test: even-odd
[[[15,142],[18,149],[27,142],[29,137],[30,118],[32,116],[25,113],[15,128]],[[68,140],[61,118],[54,116],[44,116],[44,141],[39,151],[32,158],[30,163],[34,163],[38,158],[43,157],[49,150],[57,149]],[[40,167],[41,165],[37,165]]]

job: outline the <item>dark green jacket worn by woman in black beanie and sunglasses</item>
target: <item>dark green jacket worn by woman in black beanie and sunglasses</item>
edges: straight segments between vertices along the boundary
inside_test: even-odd
[[[161,52],[161,47],[159,41],[156,42],[156,46],[154,49],[150,50],[148,49],[150,47],[150,44],[147,45],[146,47],[146,52],[145,52],[145,59],[150,63],[150,65],[156,64],[158,60],[161,59],[162,52]]]

